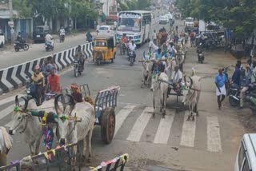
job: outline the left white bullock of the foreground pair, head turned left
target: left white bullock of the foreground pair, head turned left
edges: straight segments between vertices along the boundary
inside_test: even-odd
[[[25,105],[19,105],[18,96],[15,97],[15,105],[18,107],[18,111],[13,113],[9,133],[10,135],[23,133],[24,140],[30,146],[30,153],[33,156],[39,153],[42,139],[42,125],[40,125],[38,117],[33,117],[29,113],[29,110],[38,109],[44,110],[47,113],[55,112],[54,99],[44,101],[40,106],[37,105],[33,98],[27,99],[26,97],[22,97],[22,99],[25,101]]]

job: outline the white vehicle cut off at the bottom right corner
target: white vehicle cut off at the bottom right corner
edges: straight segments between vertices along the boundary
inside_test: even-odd
[[[234,171],[256,170],[256,133],[246,133],[242,137],[234,164]]]

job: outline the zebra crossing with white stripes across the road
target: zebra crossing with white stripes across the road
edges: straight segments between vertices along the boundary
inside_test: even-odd
[[[0,123],[6,128],[11,125],[10,113],[14,106],[13,99],[14,97],[10,97],[0,101]],[[122,103],[118,104],[115,113],[114,139],[137,143],[149,142],[158,145],[180,145],[188,148],[200,146],[196,143],[203,140],[205,141],[203,143],[206,144],[206,148],[202,147],[205,148],[203,150],[214,153],[222,152],[220,125],[216,114],[200,114],[199,117],[205,117],[206,121],[206,124],[202,124],[206,126],[202,126],[198,121],[199,117],[196,117],[195,121],[186,121],[188,112],[176,113],[175,109],[167,109],[166,118],[162,118],[161,114],[156,114],[156,117],[153,118],[153,108],[150,106]],[[8,117],[8,121],[2,124],[1,120],[5,117]],[[199,129],[201,129],[200,135],[197,135]],[[200,136],[200,141],[197,140],[198,136]]]

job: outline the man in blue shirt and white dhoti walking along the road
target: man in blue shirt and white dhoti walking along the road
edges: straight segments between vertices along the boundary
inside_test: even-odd
[[[228,82],[223,70],[219,69],[218,74],[215,76],[216,95],[218,97],[218,109],[222,108],[222,101],[226,96],[226,83]]]

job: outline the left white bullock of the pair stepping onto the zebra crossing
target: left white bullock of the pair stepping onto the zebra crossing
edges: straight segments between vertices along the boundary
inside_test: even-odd
[[[150,90],[153,91],[153,107],[155,109],[155,102],[159,100],[160,98],[160,112],[162,112],[162,118],[166,115],[166,99],[167,99],[167,93],[168,93],[168,84],[165,82],[168,82],[168,76],[165,73],[160,74],[154,74],[152,77],[152,83]],[[153,113],[153,117],[155,115],[155,112]]]

